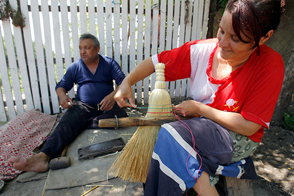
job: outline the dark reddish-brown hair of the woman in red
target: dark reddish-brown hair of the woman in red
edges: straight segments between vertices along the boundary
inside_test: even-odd
[[[254,37],[253,48],[258,48],[262,36],[266,36],[270,30],[276,30],[280,23],[284,0],[230,0],[225,7],[232,14],[232,27],[239,40],[248,43],[241,38],[241,32],[250,32]]]

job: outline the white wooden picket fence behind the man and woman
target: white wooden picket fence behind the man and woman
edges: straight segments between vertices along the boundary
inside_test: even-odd
[[[13,9],[18,0],[10,0]],[[206,38],[209,0],[21,0],[25,27],[0,21],[0,121],[30,109],[59,113],[55,85],[79,56],[78,38],[99,38],[100,53],[127,75],[143,59],[190,40]],[[181,62],[179,62],[181,63]],[[155,75],[132,86],[148,103]],[[189,96],[189,80],[167,83],[172,98]],[[74,90],[69,97],[74,97]]]

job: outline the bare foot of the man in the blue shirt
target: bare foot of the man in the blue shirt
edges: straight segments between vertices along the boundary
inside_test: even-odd
[[[23,172],[46,172],[49,169],[50,157],[45,153],[38,153],[28,158],[11,157],[8,162],[11,167]]]

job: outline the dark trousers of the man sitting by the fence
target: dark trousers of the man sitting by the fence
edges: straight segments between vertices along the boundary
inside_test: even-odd
[[[54,132],[45,142],[41,152],[56,158],[60,157],[64,147],[78,137],[85,129],[98,128],[99,119],[127,117],[124,109],[118,104],[110,111],[98,110],[97,104],[86,104],[78,99],[73,99],[73,106],[64,113]]]

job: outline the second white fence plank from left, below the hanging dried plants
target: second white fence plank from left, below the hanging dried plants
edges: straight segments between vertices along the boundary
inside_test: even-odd
[[[18,66],[15,58],[15,50],[13,43],[13,34],[10,27],[10,21],[3,21],[3,29],[6,43],[6,52],[8,57],[8,67],[10,71],[10,81],[12,83],[13,99],[15,99],[15,106],[17,114],[23,113],[24,108],[22,104],[22,92],[20,90],[20,78],[18,76]],[[14,106],[8,110],[15,110]]]

